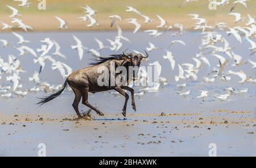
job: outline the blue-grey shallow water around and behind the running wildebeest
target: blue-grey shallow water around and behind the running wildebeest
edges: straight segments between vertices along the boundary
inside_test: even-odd
[[[79,61],[79,57],[76,50],[71,49],[71,45],[75,44],[72,35],[75,35],[80,38],[83,45],[88,48],[97,49],[97,43],[94,41],[94,37],[102,40],[104,44],[108,44],[105,40],[106,38],[113,39],[113,37],[117,34],[115,32],[52,32],[52,33],[20,33],[26,37],[26,40],[30,40],[31,43],[26,44],[33,49],[40,48],[40,40],[43,40],[46,37],[55,39],[61,46],[61,53],[67,56],[67,59],[59,58],[57,60],[63,61],[67,63],[69,66],[73,68],[73,71],[79,70],[80,68],[84,68],[88,66],[90,62],[90,55],[85,53],[82,61]],[[225,34],[223,34],[226,37]],[[148,63],[152,63],[155,61],[159,61],[162,64],[162,73],[160,76],[166,77],[168,79],[168,85],[166,87],[161,87],[159,92],[157,93],[146,93],[142,97],[136,97],[135,102],[137,104],[137,111],[134,113],[134,110],[130,106],[130,100],[127,105],[127,119],[128,120],[95,120],[93,122],[89,122],[89,124],[83,123],[82,126],[77,126],[73,122],[64,122],[64,126],[61,123],[51,123],[47,122],[42,126],[38,122],[35,123],[27,123],[26,130],[21,129],[20,124],[24,121],[20,121],[15,124],[15,126],[1,126],[0,125],[0,136],[5,137],[0,140],[0,155],[28,155],[34,156],[36,153],[36,144],[40,143],[39,141],[46,142],[50,147],[49,150],[50,156],[67,156],[69,154],[73,156],[131,156],[133,153],[136,153],[138,156],[148,155],[148,156],[207,156],[208,155],[208,144],[212,142],[216,142],[220,147],[220,155],[221,156],[255,156],[255,134],[249,135],[246,132],[255,131],[255,127],[252,127],[255,124],[255,114],[256,114],[256,87],[255,84],[245,83],[241,85],[238,83],[239,78],[237,76],[232,76],[232,80],[228,82],[224,81],[215,81],[213,84],[203,84],[203,77],[206,76],[210,70],[212,70],[213,66],[216,67],[218,64],[217,58],[214,58],[210,55],[207,57],[211,63],[211,67],[204,66],[202,70],[199,72],[199,81],[190,81],[187,80],[187,87],[184,91],[191,90],[192,93],[187,97],[181,97],[176,94],[176,92],[180,92],[179,89],[176,88],[176,83],[174,81],[174,75],[178,73],[177,63],[195,63],[191,59],[196,56],[196,53],[199,53],[198,46],[200,44],[200,33],[198,32],[184,32],[182,37],[172,37],[170,33],[166,33],[160,37],[150,37],[146,35],[146,33],[136,33],[133,35],[130,32],[124,32],[123,36],[130,38],[131,43],[123,41],[123,46],[119,51],[110,51],[110,50],[102,50],[100,53],[102,56],[109,54],[120,54],[126,48],[143,51],[146,47],[148,47],[148,42],[152,42],[155,46],[158,46],[163,49],[168,49],[172,51],[175,59],[176,66],[175,70],[171,70],[171,66],[168,60],[163,59],[163,55],[166,52],[161,50],[152,51],[150,53],[150,61]],[[6,39],[11,42],[11,46],[7,46],[7,48],[1,48],[0,55],[7,61],[7,55],[13,54],[18,55],[18,50],[13,48],[13,45],[16,46],[16,37],[14,37],[11,33],[0,34],[0,38]],[[230,42],[230,46],[234,46],[234,53],[241,55],[246,61],[247,58],[250,58],[252,61],[256,61],[255,55],[249,56],[249,44],[243,42],[243,44],[239,44],[235,38],[232,36],[226,37]],[[187,46],[183,45],[174,45],[168,47],[168,44],[172,40],[183,40],[186,42]],[[51,51],[53,52],[54,49]],[[23,57],[16,56],[24,70],[27,73],[23,73],[22,83],[23,88],[31,88],[34,86],[32,82],[28,82],[28,77],[32,76],[34,70],[39,70],[37,64],[34,64],[32,59],[32,55],[25,55]],[[56,57],[55,57],[56,58]],[[143,63],[146,65],[147,63]],[[229,63],[232,64],[232,63]],[[252,70],[250,64],[245,64],[241,67],[241,69],[248,75],[256,78],[255,71]],[[226,68],[227,70],[239,71],[240,67],[230,67]],[[5,82],[5,77],[1,80],[1,85],[8,84]],[[61,75],[58,71],[52,71],[50,64],[46,64],[44,71],[40,74],[41,81],[48,81],[51,84],[63,84],[64,79],[62,79]],[[181,81],[180,83],[184,83]],[[214,98],[214,94],[224,94],[226,92],[223,91],[226,87],[240,87],[240,88],[249,88],[249,92],[245,95],[232,95],[230,99],[232,101],[221,102]],[[135,89],[136,90],[136,89]],[[196,96],[199,96],[200,90],[209,91],[210,96],[205,99],[205,102],[201,101]],[[3,121],[10,122],[13,120],[14,115],[19,116],[28,116],[28,117],[36,117],[38,115],[43,116],[44,118],[65,118],[75,116],[75,112],[73,111],[72,102],[73,102],[73,93],[72,92],[64,92],[60,97],[55,100],[49,102],[48,104],[38,107],[36,106],[36,102],[38,101],[37,97],[46,96],[49,93],[28,93],[24,98],[13,96],[12,98],[0,98],[0,115],[2,116]],[[122,118],[121,109],[124,103],[124,98],[122,96],[114,96],[109,92],[102,92],[96,94],[89,94],[89,101],[92,105],[97,106],[101,109],[102,112],[105,113],[105,117],[98,117],[93,113],[93,116],[97,119],[115,119]],[[250,111],[249,114],[232,114],[232,113],[215,113],[214,110],[229,110],[229,111]],[[87,108],[85,106],[80,105],[80,110],[86,111]],[[166,114],[192,114],[191,116],[186,117],[168,117],[168,118],[159,118],[158,114],[166,113]],[[117,114],[117,116],[115,116]],[[150,116],[150,114],[155,114],[156,117]],[[199,114],[199,115],[193,115]],[[148,116],[149,115],[149,116]],[[207,128],[207,124],[203,124],[200,127],[200,131],[195,130],[196,128],[186,129],[183,128],[187,126],[187,124],[183,123],[183,120],[198,120],[200,117],[208,118],[208,122],[211,118],[218,119],[227,119],[227,120],[241,120],[242,119],[251,119],[250,122],[241,122],[238,124],[234,124],[233,126],[229,126],[226,128],[224,125],[216,126],[212,128],[210,132],[205,131]],[[6,119],[9,118],[9,119]],[[10,119],[11,118],[11,119]],[[157,120],[168,120],[171,124],[167,124],[168,128],[157,128],[156,125],[150,124],[154,118]],[[142,120],[149,120],[148,124],[144,124]],[[133,123],[134,120],[139,120],[141,123],[135,124],[134,127],[126,127],[126,124],[122,123]],[[177,123],[174,122],[177,120]],[[0,120],[1,121],[1,120]],[[108,141],[109,144],[101,145],[94,144],[96,141],[96,137],[98,133],[93,131],[94,126],[101,126],[101,123],[113,123],[108,124],[108,128],[106,128],[108,135],[101,139],[101,141]],[[174,123],[172,123],[174,122]],[[121,124],[118,124],[121,123]],[[250,127],[245,129],[245,123],[249,123]],[[200,123],[199,123],[200,124]],[[76,125],[76,126],[75,126]],[[161,126],[160,122],[157,124]],[[151,135],[159,135],[160,132],[164,130],[170,131],[170,127],[175,127],[178,125],[180,127],[179,131],[172,131],[170,135],[166,135],[166,142],[158,145],[141,145],[137,144],[140,141],[143,141],[142,137],[138,137],[137,135],[140,132],[150,132]],[[192,126],[192,125],[191,125]],[[194,125],[193,125],[194,126]],[[61,131],[62,127],[68,127],[71,131],[63,132]],[[123,132],[123,127],[127,128],[126,132]],[[206,128],[205,128],[206,127]],[[90,130],[88,131],[87,128]],[[112,129],[113,128],[113,129]],[[248,131],[249,129],[249,131]],[[7,136],[9,132],[13,132],[18,130],[18,133],[15,135]],[[160,130],[160,131],[159,131]],[[191,131],[193,130],[193,131]],[[60,131],[60,132],[58,132]],[[105,133],[104,129],[98,131],[101,133]],[[56,136],[51,139],[51,136],[57,134],[61,134],[64,137]],[[255,133],[255,132],[254,132]],[[199,139],[193,139],[193,136],[201,135]],[[28,135],[28,137],[26,137]],[[85,136],[86,135],[86,136]],[[92,136],[90,136],[92,135]],[[129,135],[131,137],[130,140],[125,139],[123,136]],[[75,137],[75,138],[74,138]],[[90,138],[89,138],[90,137]],[[18,138],[15,140],[14,144],[10,144],[13,138]],[[152,139],[152,137],[144,137],[144,139]],[[154,139],[154,138],[153,138]],[[178,141],[179,139],[183,140],[184,143],[181,144],[170,144],[171,140]],[[19,141],[20,140],[20,141]],[[23,144],[26,141],[28,143]],[[83,145],[85,142],[88,145]],[[113,148],[115,145],[122,146],[122,141],[125,143],[124,147]],[[30,143],[29,143],[30,142]],[[22,147],[20,147],[20,143],[22,143]],[[57,144],[57,145],[56,145]],[[53,147],[55,145],[55,147]],[[202,146],[201,146],[202,145]],[[230,148],[232,146],[232,148]],[[74,147],[74,148],[72,148]],[[168,147],[168,148],[166,148]],[[92,149],[93,148],[93,149]],[[62,150],[63,149],[63,150]],[[113,150],[112,150],[113,149]],[[68,152],[67,152],[68,150]],[[108,151],[108,152],[102,152]]]

